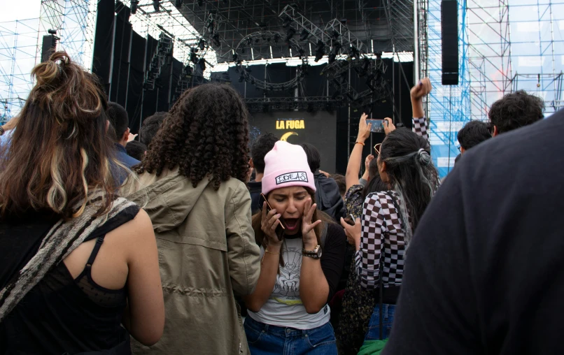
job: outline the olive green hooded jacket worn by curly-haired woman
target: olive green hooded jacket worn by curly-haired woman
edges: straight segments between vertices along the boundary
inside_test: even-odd
[[[251,197],[236,179],[218,191],[197,187],[178,168],[129,178],[121,195],[150,216],[159,250],[164,333],[134,354],[249,354],[237,295],[251,294],[260,274],[260,249],[251,227]],[[150,319],[146,319],[150,321]]]

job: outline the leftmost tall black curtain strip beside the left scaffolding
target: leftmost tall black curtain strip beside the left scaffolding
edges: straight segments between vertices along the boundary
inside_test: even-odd
[[[115,5],[113,0],[98,1],[92,73],[99,76],[106,93],[110,89],[114,11]]]

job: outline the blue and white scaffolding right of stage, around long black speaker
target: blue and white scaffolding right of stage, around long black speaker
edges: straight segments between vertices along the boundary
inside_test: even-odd
[[[458,130],[470,119],[488,120],[491,104],[503,95],[524,89],[540,96],[545,115],[564,106],[564,0],[460,1],[460,84],[454,87],[440,85],[440,1],[419,0],[417,13],[421,75],[435,87],[425,109],[442,176],[458,154]]]

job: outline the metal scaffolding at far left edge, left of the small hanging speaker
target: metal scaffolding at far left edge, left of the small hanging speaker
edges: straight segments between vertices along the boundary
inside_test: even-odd
[[[39,19],[0,23],[0,124],[24,106],[34,86]]]

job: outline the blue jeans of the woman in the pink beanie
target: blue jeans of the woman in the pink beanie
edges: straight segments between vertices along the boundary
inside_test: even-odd
[[[300,330],[269,326],[246,317],[244,327],[251,355],[337,355],[335,334],[329,322]]]

